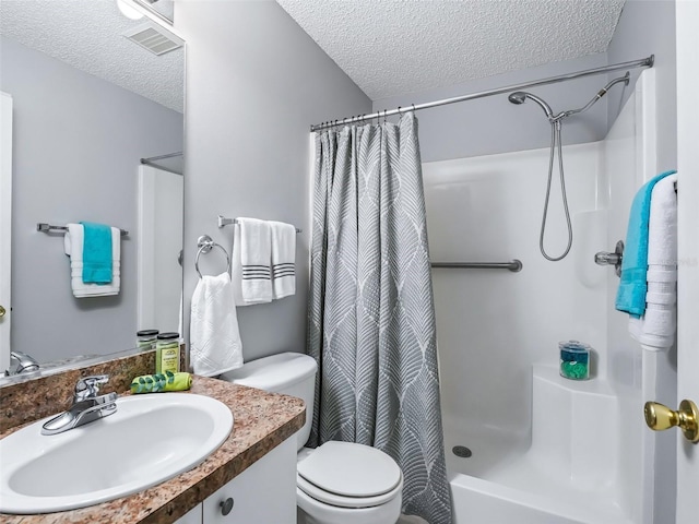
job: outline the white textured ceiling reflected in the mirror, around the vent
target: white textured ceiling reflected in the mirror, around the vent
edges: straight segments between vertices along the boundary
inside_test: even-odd
[[[115,0],[2,0],[0,34],[182,112],[185,53],[156,57],[121,36],[146,19]]]

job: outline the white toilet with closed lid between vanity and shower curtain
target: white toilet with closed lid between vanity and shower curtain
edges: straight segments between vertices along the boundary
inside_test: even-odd
[[[220,378],[236,384],[297,396],[306,424],[296,433],[296,504],[299,524],[395,524],[401,514],[403,474],[393,458],[354,442],[304,448],[313,414],[316,360],[282,353],[250,361]]]

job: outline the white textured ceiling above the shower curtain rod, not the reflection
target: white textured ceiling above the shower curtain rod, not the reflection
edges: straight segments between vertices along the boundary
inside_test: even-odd
[[[371,98],[604,52],[624,0],[276,0]]]

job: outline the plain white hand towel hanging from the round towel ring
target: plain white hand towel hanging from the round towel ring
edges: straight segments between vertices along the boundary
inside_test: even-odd
[[[204,275],[192,295],[189,327],[194,373],[213,377],[242,366],[242,344],[230,275]]]

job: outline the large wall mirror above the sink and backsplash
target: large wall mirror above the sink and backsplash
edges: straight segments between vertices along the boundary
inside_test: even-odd
[[[116,0],[3,1],[0,24],[0,91],[13,105],[11,349],[78,364],[133,348],[140,329],[176,331],[183,41]],[[117,295],[76,298],[64,231],[37,231],[81,221],[128,231]]]

